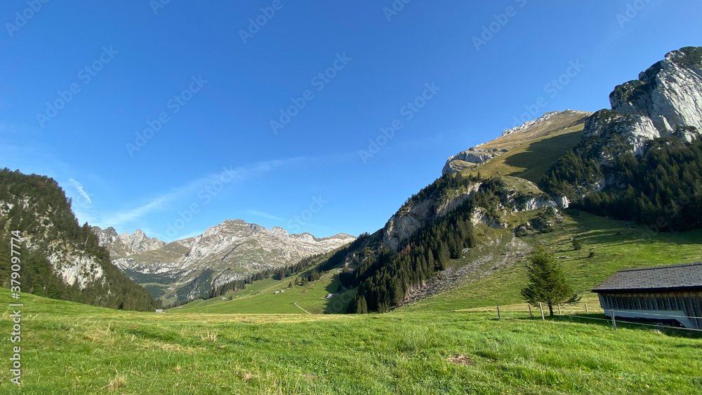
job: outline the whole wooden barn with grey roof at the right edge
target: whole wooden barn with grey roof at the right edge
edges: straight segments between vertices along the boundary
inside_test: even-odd
[[[592,292],[607,316],[702,329],[702,262],[620,270]]]

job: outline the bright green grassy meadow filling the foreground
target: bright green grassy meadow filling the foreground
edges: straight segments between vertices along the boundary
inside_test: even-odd
[[[0,299],[11,300],[8,290]],[[475,312],[119,312],[22,295],[2,394],[699,394],[702,340]],[[11,332],[8,312],[0,322]],[[564,318],[564,317],[562,317]]]

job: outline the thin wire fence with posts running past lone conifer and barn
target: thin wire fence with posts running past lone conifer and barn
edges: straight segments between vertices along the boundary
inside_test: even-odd
[[[670,312],[670,314],[658,314],[651,312],[643,312],[633,309],[607,309],[607,312],[600,307],[600,304],[595,303],[574,303],[574,304],[556,304],[552,306],[554,316],[569,317],[571,321],[583,320],[587,321],[607,321],[613,330],[617,329],[617,325],[626,324],[628,326],[647,326],[656,329],[673,329],[684,330],[691,333],[702,333],[699,328],[684,328],[682,322],[684,320],[702,320],[699,316],[686,316],[675,314],[679,312]],[[494,316],[491,319],[548,319],[550,310],[545,304],[508,304],[496,305],[495,307],[479,307],[475,309],[465,309],[461,312],[485,312],[492,313]],[[587,314],[587,315],[583,315]],[[575,319],[575,320],[574,320]],[[632,321],[636,320],[636,321]],[[639,320],[658,321],[658,322],[641,322]],[[668,325],[671,321],[680,323],[680,326]],[[582,321],[581,321],[582,322]],[[695,325],[696,321],[687,321]],[[697,324],[698,325],[698,324]]]

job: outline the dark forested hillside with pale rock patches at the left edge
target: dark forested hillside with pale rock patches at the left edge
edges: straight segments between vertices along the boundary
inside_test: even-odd
[[[160,302],[110,263],[110,253],[52,178],[0,170],[0,286],[10,286],[13,231],[21,243],[22,292],[100,307],[150,310]]]

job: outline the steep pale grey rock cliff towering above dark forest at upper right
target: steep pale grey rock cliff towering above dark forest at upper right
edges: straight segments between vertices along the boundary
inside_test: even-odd
[[[616,86],[609,102],[611,110],[595,113],[583,134],[600,139],[603,162],[625,151],[643,154],[654,138],[691,141],[702,130],[702,47],[668,53],[639,79]]]

